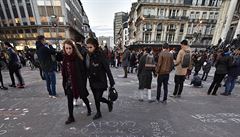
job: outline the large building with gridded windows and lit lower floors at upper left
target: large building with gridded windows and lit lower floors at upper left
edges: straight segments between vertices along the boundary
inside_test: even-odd
[[[59,45],[65,38],[84,38],[90,28],[86,18],[80,0],[1,0],[0,40],[34,47],[36,37],[44,35]]]

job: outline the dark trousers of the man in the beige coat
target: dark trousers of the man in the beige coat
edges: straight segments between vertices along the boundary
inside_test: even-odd
[[[183,84],[185,81],[185,76],[183,75],[175,75],[174,82],[175,82],[175,88],[173,95],[181,95],[183,91]]]

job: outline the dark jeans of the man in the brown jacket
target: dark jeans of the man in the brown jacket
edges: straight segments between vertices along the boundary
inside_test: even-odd
[[[169,74],[158,76],[158,80],[157,80],[157,100],[158,101],[159,101],[160,96],[161,96],[162,84],[163,84],[163,89],[164,89],[163,101],[167,100],[168,80],[169,80]]]

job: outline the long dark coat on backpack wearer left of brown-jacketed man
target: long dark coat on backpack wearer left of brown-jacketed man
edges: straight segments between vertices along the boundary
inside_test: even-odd
[[[145,69],[146,58],[148,54],[143,55],[140,58],[138,66],[138,80],[139,80],[139,89],[151,89],[152,85],[152,70]]]

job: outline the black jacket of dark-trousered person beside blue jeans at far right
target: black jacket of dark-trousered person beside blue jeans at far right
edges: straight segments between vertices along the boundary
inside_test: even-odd
[[[230,56],[220,55],[219,59],[217,60],[215,67],[216,67],[216,74],[227,74],[228,69],[232,64],[232,59]]]

